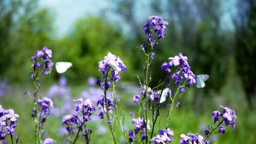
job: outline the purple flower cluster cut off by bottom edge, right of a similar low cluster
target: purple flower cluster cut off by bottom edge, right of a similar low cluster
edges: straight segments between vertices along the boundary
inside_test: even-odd
[[[198,135],[198,133],[181,134],[180,136],[182,138],[180,144],[205,144],[203,136]]]

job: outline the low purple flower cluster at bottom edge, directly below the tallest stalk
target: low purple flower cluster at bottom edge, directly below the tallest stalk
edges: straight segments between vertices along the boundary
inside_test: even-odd
[[[155,144],[165,144],[165,142],[170,142],[173,140],[172,136],[174,136],[173,131],[168,128],[166,131],[165,129],[161,129],[158,131],[159,135],[150,139],[150,141],[154,141]]]

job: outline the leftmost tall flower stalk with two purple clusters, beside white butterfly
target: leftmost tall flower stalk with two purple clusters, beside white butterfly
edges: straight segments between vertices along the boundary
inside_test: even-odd
[[[46,97],[39,96],[40,89],[40,77],[48,75],[51,72],[53,62],[51,62],[52,51],[47,47],[43,47],[41,50],[35,52],[35,56],[31,57],[33,62],[33,71],[30,72],[31,79],[34,84],[33,98],[33,110],[32,117],[35,123],[35,143],[42,144],[45,139],[45,133],[43,124],[45,123],[47,115],[50,114],[49,107],[53,107],[53,101]],[[27,93],[29,94],[29,93]],[[30,96],[30,94],[29,94]]]

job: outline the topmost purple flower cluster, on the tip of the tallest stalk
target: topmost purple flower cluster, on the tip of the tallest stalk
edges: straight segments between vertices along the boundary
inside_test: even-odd
[[[163,21],[163,18],[160,16],[149,16],[149,20],[151,22],[147,22],[144,24],[143,29],[145,31],[145,35],[148,35],[148,43],[153,45],[156,40],[154,40],[154,35],[157,34],[157,39],[164,38],[164,32],[166,30],[165,25],[168,25],[167,21]]]

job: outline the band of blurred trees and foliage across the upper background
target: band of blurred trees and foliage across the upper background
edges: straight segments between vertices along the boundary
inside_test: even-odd
[[[81,78],[89,76],[98,77],[97,62],[107,52],[120,56],[127,66],[123,80],[135,81],[136,75],[143,78],[144,55],[136,47],[147,43],[141,28],[147,18],[138,22],[135,10],[143,10],[136,9],[136,0],[109,3],[116,8],[104,9],[97,16],[79,18],[67,35],[54,37],[54,15],[48,9],[40,8],[38,0],[0,1],[0,75],[11,82],[28,83],[30,56],[35,50],[47,46],[53,50],[53,61],[73,63],[72,69],[64,74],[73,83],[80,83]],[[210,75],[207,86],[200,93],[195,91],[195,96],[220,93],[229,83],[228,75],[236,77],[238,73],[246,85],[245,91],[250,91],[246,93],[248,100],[252,101],[255,84],[251,79],[255,79],[256,72],[251,68],[256,50],[255,3],[252,0],[237,1],[238,5],[245,5],[237,7],[237,13],[244,14],[234,18],[233,30],[221,28],[222,4],[221,0],[167,0],[163,6],[150,1],[152,13],[162,15],[169,22],[165,39],[159,40],[155,48],[150,69],[151,87],[165,77],[160,70],[163,61],[181,52],[188,56],[195,74]],[[121,22],[114,23],[109,19],[109,12],[124,20],[131,29],[128,34],[123,34]],[[47,80],[52,78],[56,80],[59,75],[53,72]]]

